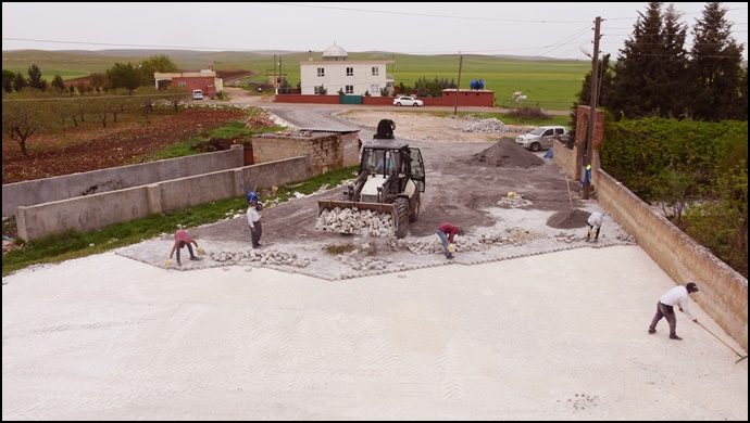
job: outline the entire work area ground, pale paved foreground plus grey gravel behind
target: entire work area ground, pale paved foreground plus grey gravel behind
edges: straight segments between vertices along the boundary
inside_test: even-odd
[[[332,107],[268,108],[355,125]],[[3,420],[748,420],[748,360],[697,303],[705,330],[678,313],[683,341],[665,321],[647,332],[687,281],[609,215],[585,242],[607,205],[501,142],[511,133],[455,142],[443,123],[423,140],[392,108],[361,133],[390,118],[425,156],[423,210],[401,241],[315,231],[317,200],[339,187],[270,204],[257,251],[245,210],[227,210],[189,229],[200,261],[184,252],[167,268],[166,233],[4,278]],[[445,221],[466,228],[453,260]]]

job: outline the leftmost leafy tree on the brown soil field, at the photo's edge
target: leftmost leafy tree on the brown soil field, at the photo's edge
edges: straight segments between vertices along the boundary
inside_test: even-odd
[[[54,118],[47,104],[40,101],[41,92],[32,88],[4,94],[2,98],[2,139],[15,141],[21,154],[27,156],[26,142],[39,130],[50,126]]]

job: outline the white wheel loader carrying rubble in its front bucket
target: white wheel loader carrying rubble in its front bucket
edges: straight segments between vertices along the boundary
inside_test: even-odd
[[[392,216],[396,238],[407,236],[409,223],[420,217],[425,169],[420,149],[396,139],[395,128],[392,120],[380,120],[373,140],[361,146],[357,179],[341,200],[318,201],[318,216],[336,207],[385,213]]]

